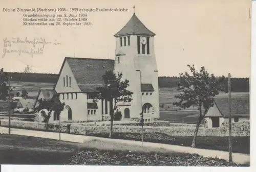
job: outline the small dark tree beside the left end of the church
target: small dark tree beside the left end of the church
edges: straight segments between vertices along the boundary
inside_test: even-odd
[[[41,110],[46,109],[48,113],[41,113],[44,118],[43,122],[46,122],[46,130],[48,130],[49,119],[52,112],[57,116],[60,116],[60,113],[63,111],[65,103],[61,103],[57,96],[54,96],[52,99],[39,99],[38,106],[35,108],[35,112],[39,113]]]

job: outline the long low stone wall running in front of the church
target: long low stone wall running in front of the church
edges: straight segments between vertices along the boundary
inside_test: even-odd
[[[8,120],[2,119],[1,126],[8,127]],[[29,121],[11,121],[11,126],[14,128],[45,130],[46,124],[42,122],[29,122]],[[69,129],[68,129],[69,128]],[[49,124],[50,131],[58,131],[59,125]],[[99,125],[81,125],[81,124],[61,124],[61,132],[68,132],[73,134],[90,135],[95,133],[108,133],[110,126]],[[170,136],[193,136],[195,127],[192,126],[172,126],[172,127],[154,127],[145,126],[146,133],[165,133]],[[140,126],[121,126],[114,125],[113,132],[119,133],[140,133]],[[232,124],[232,136],[249,136],[250,135],[250,122],[241,121]],[[223,122],[220,128],[204,128],[200,127],[198,136],[228,136],[228,122]]]

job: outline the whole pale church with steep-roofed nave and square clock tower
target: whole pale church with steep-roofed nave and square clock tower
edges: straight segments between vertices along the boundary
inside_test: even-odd
[[[155,34],[133,14],[115,35],[115,60],[65,58],[54,87],[65,110],[61,120],[102,121],[109,119],[110,103],[93,101],[97,87],[103,86],[106,70],[121,72],[129,80],[132,102],[119,102],[121,120],[137,120],[143,112],[145,121],[159,118],[158,70],[154,51]]]

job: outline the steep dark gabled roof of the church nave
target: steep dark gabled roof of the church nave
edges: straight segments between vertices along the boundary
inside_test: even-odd
[[[97,87],[103,86],[102,76],[106,70],[114,70],[114,60],[110,59],[90,59],[66,57],[60,68],[59,75],[65,64],[70,66],[78,87],[82,92],[95,92]],[[59,78],[59,77],[58,77]],[[56,84],[54,86],[54,89]]]

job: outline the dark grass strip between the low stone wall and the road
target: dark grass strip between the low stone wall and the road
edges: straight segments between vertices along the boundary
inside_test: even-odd
[[[91,136],[108,138],[109,133],[92,134]],[[113,138],[141,141],[141,134],[114,132]],[[145,142],[190,146],[193,140],[193,136],[172,137],[163,133],[144,133],[143,140]],[[200,149],[219,150],[228,152],[228,137],[198,136],[196,147]],[[232,152],[250,154],[250,137],[232,137]]]

